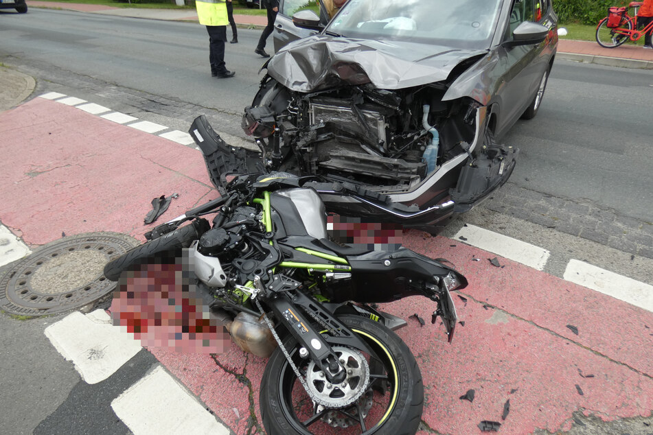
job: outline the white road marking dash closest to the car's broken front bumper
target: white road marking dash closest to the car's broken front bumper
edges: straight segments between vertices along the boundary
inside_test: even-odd
[[[551,256],[551,252],[544,248],[471,224],[460,228],[454,238],[536,270],[544,270]]]

